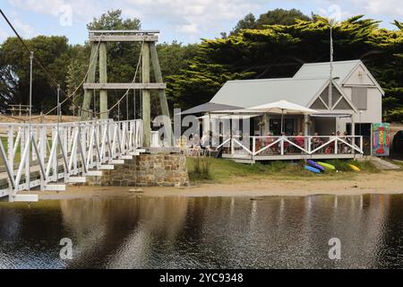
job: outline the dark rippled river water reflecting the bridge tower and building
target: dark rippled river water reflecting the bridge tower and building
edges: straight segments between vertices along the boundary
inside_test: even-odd
[[[59,256],[64,238],[73,259]],[[0,203],[0,242],[0,268],[402,267],[403,196]]]

